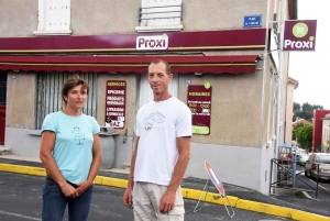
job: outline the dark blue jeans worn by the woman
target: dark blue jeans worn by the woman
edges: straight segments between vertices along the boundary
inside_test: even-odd
[[[87,221],[91,207],[94,185],[77,198],[67,198],[51,177],[43,186],[43,221],[62,221],[68,205],[69,221]]]

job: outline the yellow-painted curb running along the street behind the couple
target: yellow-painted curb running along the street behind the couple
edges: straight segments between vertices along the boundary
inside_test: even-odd
[[[21,166],[21,165],[2,164],[2,163],[0,163],[0,172],[26,174],[31,176],[46,176],[46,170],[42,167],[31,167],[31,166]],[[128,180],[112,178],[112,177],[97,176],[95,179],[95,184],[102,185],[102,186],[118,187],[118,188],[127,188]],[[182,188],[182,192],[184,198],[186,199],[199,200],[205,198],[205,202],[223,205],[223,201],[219,196],[219,194],[208,192],[207,196],[205,197],[206,195],[205,191],[197,190],[197,189],[187,189],[187,188]],[[330,218],[328,217],[305,212],[293,208],[285,208],[285,207],[279,207],[279,206],[274,206],[274,205],[268,205],[263,202],[255,202],[255,201],[244,200],[232,196],[228,196],[228,199],[231,206],[238,209],[249,210],[253,212],[261,212],[261,213],[288,218],[293,220],[300,220],[300,221],[310,221],[310,220],[330,221]],[[226,205],[229,206],[228,202],[226,202]]]

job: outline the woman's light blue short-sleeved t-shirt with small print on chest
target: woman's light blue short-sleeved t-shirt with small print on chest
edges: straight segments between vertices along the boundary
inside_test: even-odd
[[[46,115],[42,132],[56,134],[53,157],[64,178],[79,184],[87,179],[92,162],[94,134],[100,132],[95,118],[70,117],[62,111]]]

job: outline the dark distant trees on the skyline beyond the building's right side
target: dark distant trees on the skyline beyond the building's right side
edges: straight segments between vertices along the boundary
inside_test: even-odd
[[[323,110],[323,106],[319,104],[309,104],[308,102],[302,103],[300,106],[297,102],[294,102],[294,119],[293,121],[297,121],[298,119],[305,119],[307,121],[312,121],[314,118],[314,110]]]

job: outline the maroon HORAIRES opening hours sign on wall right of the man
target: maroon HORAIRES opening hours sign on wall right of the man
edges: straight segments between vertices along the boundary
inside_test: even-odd
[[[193,114],[194,134],[210,134],[211,98],[212,87],[210,82],[206,82],[205,85],[188,86],[187,104]]]

